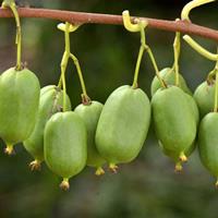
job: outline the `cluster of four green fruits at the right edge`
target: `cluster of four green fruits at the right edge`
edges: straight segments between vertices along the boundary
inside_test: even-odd
[[[164,69],[160,76],[167,88],[160,86],[157,77],[152,83],[154,126],[160,148],[180,171],[197,145],[203,165],[218,178],[217,66],[193,96],[181,74],[174,86],[173,69]]]

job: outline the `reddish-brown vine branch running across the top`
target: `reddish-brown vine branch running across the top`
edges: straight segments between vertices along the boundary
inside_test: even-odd
[[[52,19],[58,21],[66,21],[69,23],[123,25],[121,15],[83,13],[73,11],[50,10],[50,9],[29,9],[29,8],[20,8],[19,14],[21,17]],[[0,17],[13,17],[13,14],[8,9],[0,9]],[[168,32],[181,32],[184,34],[196,35],[218,41],[218,31],[199,26],[193,23],[184,21],[175,22],[175,21],[165,21],[165,20],[136,17],[136,16],[132,16],[132,22],[134,22],[135,19],[147,20],[148,26],[152,28],[158,28]]]

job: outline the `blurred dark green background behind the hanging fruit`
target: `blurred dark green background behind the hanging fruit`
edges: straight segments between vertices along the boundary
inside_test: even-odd
[[[132,15],[174,20],[187,1],[182,0],[29,0],[21,5],[121,14],[129,9]],[[195,23],[217,28],[217,4],[211,3],[192,12]],[[58,22],[23,19],[23,61],[40,80],[41,86],[57,84],[63,52],[63,33]],[[0,70],[15,64],[15,25],[12,19],[0,20]],[[173,62],[174,34],[147,29],[159,69]],[[78,58],[87,90],[92,99],[105,102],[118,86],[131,84],[140,47],[138,34],[128,33],[122,26],[84,25],[72,34],[72,51]],[[216,51],[215,41],[195,37]],[[185,43],[182,44],[181,73],[194,88],[211,70],[214,63],[202,58]],[[140,86],[149,95],[154,69],[144,57]],[[73,63],[68,68],[68,92],[73,107],[80,104],[81,88]],[[0,153],[0,217],[21,218],[217,218],[218,191],[215,179],[202,166],[197,150],[180,174],[173,162],[160,152],[150,129],[137,159],[120,166],[117,174],[94,175],[86,168],[71,180],[71,190],[59,189],[60,178],[44,165],[32,172],[27,165],[32,157],[22,145],[16,155],[7,157],[3,143]]]

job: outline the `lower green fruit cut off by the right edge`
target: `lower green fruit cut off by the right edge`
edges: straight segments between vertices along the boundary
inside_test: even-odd
[[[218,178],[218,113],[209,112],[199,124],[198,150],[203,165]]]

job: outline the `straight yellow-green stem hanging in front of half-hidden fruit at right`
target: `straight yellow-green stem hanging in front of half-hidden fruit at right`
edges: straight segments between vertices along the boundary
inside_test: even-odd
[[[180,21],[177,19],[175,21]],[[173,43],[173,51],[174,51],[174,72],[175,72],[175,86],[179,86],[180,84],[180,77],[179,77],[179,58],[180,58],[180,48],[181,48],[181,40],[180,40],[180,32],[175,33],[174,43]]]

